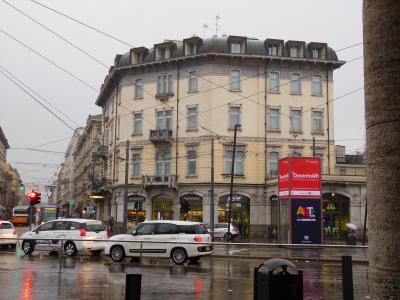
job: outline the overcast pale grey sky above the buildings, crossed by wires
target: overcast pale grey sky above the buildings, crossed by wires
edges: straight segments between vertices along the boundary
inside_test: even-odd
[[[130,47],[32,1],[0,0],[0,67],[11,72],[76,124],[84,126],[89,114],[101,112],[94,104],[98,93],[6,34],[25,43],[95,89],[100,88],[108,69],[32,22],[4,1],[50,27],[107,66],[113,64],[116,54],[128,52]],[[216,15],[221,17],[219,34],[326,42],[334,50],[362,42],[361,0],[37,1],[135,47],[151,48],[163,39],[183,39],[193,34],[211,37],[215,34]],[[203,29],[204,24],[208,25],[207,30]],[[363,55],[362,45],[337,54],[340,60],[352,60]],[[4,72],[1,68],[0,71]],[[335,71],[334,80],[334,98],[363,87],[362,59]],[[35,186],[43,193],[43,186],[55,179],[57,165],[63,161],[63,155],[13,148],[65,152],[73,131],[1,73],[0,91],[0,126],[11,147],[7,153],[8,161],[18,168],[27,188]],[[338,99],[334,107],[336,144],[345,145],[347,152],[362,151],[365,144],[363,90]],[[68,119],[66,121],[76,127],[73,122]]]

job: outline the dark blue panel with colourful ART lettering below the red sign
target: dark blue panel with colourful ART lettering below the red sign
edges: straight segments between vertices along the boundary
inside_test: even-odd
[[[321,200],[291,199],[291,243],[321,244]]]

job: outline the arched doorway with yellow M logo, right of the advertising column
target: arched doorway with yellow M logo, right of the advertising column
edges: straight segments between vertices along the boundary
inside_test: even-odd
[[[323,194],[323,231],[324,239],[344,239],[346,224],[350,220],[350,199],[337,193]]]

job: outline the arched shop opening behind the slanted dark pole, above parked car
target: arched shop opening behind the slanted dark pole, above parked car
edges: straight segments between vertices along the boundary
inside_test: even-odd
[[[241,194],[233,195],[231,222],[235,224],[241,236],[250,234],[250,198]],[[218,222],[228,223],[229,194],[221,196],[218,201]]]

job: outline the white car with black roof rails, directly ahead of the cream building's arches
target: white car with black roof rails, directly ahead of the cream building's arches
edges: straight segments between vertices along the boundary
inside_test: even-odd
[[[114,261],[125,257],[171,258],[176,264],[212,254],[211,237],[202,224],[187,221],[146,221],[132,233],[109,238],[104,253]]]

